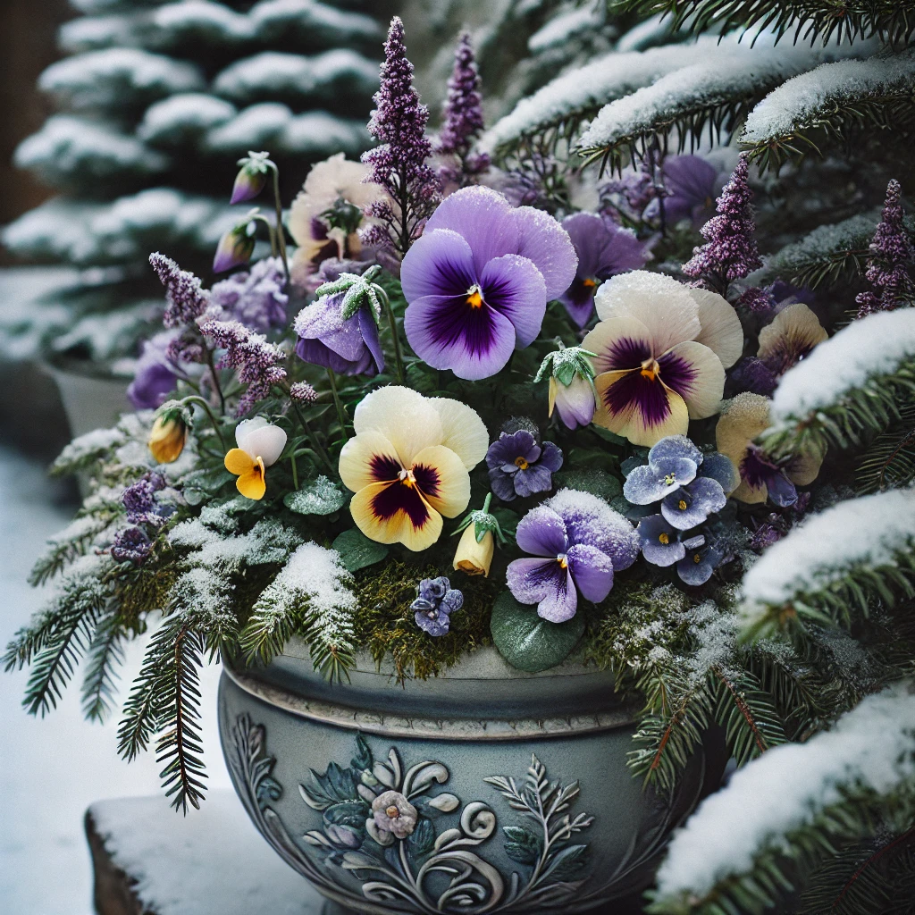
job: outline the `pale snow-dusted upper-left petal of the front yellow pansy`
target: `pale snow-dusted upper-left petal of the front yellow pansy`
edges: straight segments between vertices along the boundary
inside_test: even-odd
[[[404,467],[414,455],[444,440],[442,421],[428,397],[411,388],[392,384],[363,397],[353,414],[356,435],[374,430],[394,447]]]

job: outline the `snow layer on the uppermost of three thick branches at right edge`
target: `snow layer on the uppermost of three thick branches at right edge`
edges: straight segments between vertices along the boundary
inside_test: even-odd
[[[786,422],[835,404],[873,375],[915,361],[915,308],[878,312],[842,328],[781,378],[772,420]]]

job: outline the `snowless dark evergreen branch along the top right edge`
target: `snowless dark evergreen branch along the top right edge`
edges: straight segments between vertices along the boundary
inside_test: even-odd
[[[672,16],[672,30],[714,28],[726,35],[768,29],[777,41],[788,35],[794,43],[878,36],[904,44],[915,34],[915,4],[905,0],[618,0],[612,5],[619,12]]]

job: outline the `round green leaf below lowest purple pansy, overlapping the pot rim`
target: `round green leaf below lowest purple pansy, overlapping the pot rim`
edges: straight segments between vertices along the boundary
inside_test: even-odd
[[[545,671],[563,662],[585,631],[581,614],[564,623],[537,616],[533,605],[519,604],[508,591],[496,598],[490,632],[501,656],[528,673]]]

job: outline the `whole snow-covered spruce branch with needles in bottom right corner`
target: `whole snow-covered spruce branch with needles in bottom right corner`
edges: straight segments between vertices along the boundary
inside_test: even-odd
[[[888,809],[894,817],[886,818]],[[915,693],[898,684],[807,743],[772,749],[706,799],[674,835],[650,911],[759,915],[828,865],[837,845],[871,838],[882,822],[889,849],[913,815]],[[872,863],[859,862],[816,911],[851,911],[840,903]],[[873,901],[855,911],[888,911],[872,909]]]

